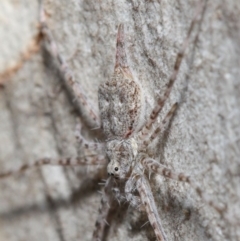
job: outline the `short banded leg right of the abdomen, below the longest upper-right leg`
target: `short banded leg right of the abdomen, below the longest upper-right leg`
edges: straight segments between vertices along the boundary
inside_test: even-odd
[[[163,121],[158,125],[158,127],[153,131],[153,133],[150,136],[147,136],[144,138],[144,141],[142,143],[142,147],[146,148],[152,141],[158,136],[160,132],[162,132],[169,124],[173,114],[175,113],[177,109],[178,103],[175,103],[168,114],[165,116]]]

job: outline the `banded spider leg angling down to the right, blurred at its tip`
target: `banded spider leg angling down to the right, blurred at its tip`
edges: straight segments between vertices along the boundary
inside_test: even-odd
[[[145,169],[147,169],[149,172],[154,172],[157,174],[160,174],[164,177],[181,181],[181,182],[187,182],[192,188],[196,191],[196,193],[199,195],[199,197],[207,204],[209,204],[211,207],[213,207],[217,212],[222,213],[226,207],[218,206],[217,204],[213,203],[213,201],[207,197],[204,192],[201,190],[201,188],[196,185],[189,176],[184,175],[183,173],[176,173],[173,172],[171,169],[165,167],[164,165],[161,165],[157,161],[151,158],[143,158],[141,160],[141,163]]]

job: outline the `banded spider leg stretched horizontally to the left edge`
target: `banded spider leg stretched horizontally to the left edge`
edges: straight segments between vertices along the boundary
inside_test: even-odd
[[[62,159],[50,159],[42,158],[31,164],[23,164],[22,166],[9,170],[6,172],[0,172],[0,179],[13,176],[17,173],[24,172],[30,168],[41,167],[44,165],[53,166],[79,166],[79,165],[105,165],[106,161],[103,156],[84,156],[75,158],[62,158]]]

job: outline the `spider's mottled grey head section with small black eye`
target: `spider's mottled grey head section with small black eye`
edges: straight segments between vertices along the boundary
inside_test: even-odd
[[[130,174],[137,154],[137,144],[133,139],[107,142],[108,175],[125,179]]]

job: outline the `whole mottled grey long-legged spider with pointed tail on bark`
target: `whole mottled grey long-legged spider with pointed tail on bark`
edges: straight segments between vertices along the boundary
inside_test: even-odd
[[[101,207],[99,208],[99,216],[93,232],[93,240],[95,241],[103,240],[104,230],[107,225],[106,219],[115,200],[119,202],[127,201],[134,207],[144,209],[154,229],[157,240],[167,240],[149,185],[148,176],[152,172],[193,185],[189,177],[184,174],[174,173],[169,168],[150,158],[148,156],[148,148],[149,144],[155,140],[159,133],[164,131],[169,125],[177,109],[177,103],[175,103],[162,123],[157,124],[157,128],[154,128],[158,114],[161,112],[177,78],[177,73],[190,34],[197,22],[197,17],[200,12],[201,11],[198,11],[196,17],[194,17],[182,50],[177,55],[174,71],[170,77],[167,90],[163,97],[158,99],[157,105],[145,123],[143,118],[145,99],[141,85],[133,78],[131,69],[127,63],[124,26],[120,24],[118,28],[114,74],[110,80],[104,82],[99,87],[99,118],[87,102],[80,85],[74,81],[67,64],[58,54],[42,12],[40,24],[41,33],[46,42],[51,46],[50,52],[54,58],[57,58],[66,82],[72,87],[79,102],[81,102],[83,108],[85,108],[88,113],[88,118],[91,119],[92,122],[95,122],[96,126],[101,125],[106,141],[105,145],[101,143],[88,143],[82,137],[80,127],[78,127],[76,136],[83,147],[85,147],[86,152],[88,152],[85,158],[66,158],[61,160],[43,158],[36,161],[33,165],[24,165],[20,167],[16,172],[29,169],[31,166],[48,164],[64,166],[86,164],[104,165],[107,160],[107,172],[109,177],[104,187]],[[102,156],[102,150],[105,150],[106,156]],[[96,153],[98,153],[98,155]],[[2,173],[0,174],[0,178],[10,176],[13,173],[13,171]],[[197,189],[197,191],[199,195],[202,195],[200,189]],[[138,195],[135,194],[136,192]]]

